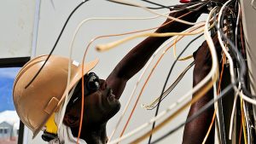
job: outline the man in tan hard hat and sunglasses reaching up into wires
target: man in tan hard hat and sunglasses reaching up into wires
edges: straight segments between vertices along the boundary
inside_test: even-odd
[[[178,17],[186,12],[187,10],[183,10],[171,15]],[[195,22],[200,14],[201,11],[192,12],[184,16],[183,20]],[[166,20],[166,22],[168,21],[170,20]],[[156,32],[182,32],[187,28],[189,28],[189,26],[178,22],[172,22],[171,24],[160,27]],[[67,67],[67,60],[58,56],[52,56],[53,58],[47,62],[46,66],[49,66],[51,69],[44,68],[46,70],[43,69],[38,75],[38,77],[43,78],[38,78],[38,80],[35,79],[33,82],[34,84],[32,83],[31,86],[24,89],[30,77],[33,76],[31,73],[27,73],[30,72],[33,65],[38,65],[40,62],[44,61],[45,56],[44,58],[36,58],[35,60],[38,60],[36,64],[33,62],[35,60],[32,60],[32,62],[24,66],[25,68],[20,70],[20,73],[15,80],[14,101],[20,119],[33,131],[34,137],[38,134],[39,130],[44,130],[45,125],[47,129],[48,125],[50,125],[50,119],[54,119],[55,123],[56,121],[60,121],[60,113],[64,111],[65,116],[61,127],[62,130],[58,130],[58,134],[52,136],[53,140],[51,140],[51,132],[49,131],[46,132],[46,136],[44,135],[43,138],[51,143],[76,143],[76,137],[79,135],[81,96],[84,96],[83,127],[80,133],[79,143],[106,143],[108,141],[106,124],[108,123],[108,120],[119,111],[119,98],[125,89],[125,84],[143,68],[150,56],[154,54],[154,51],[168,38],[170,37],[148,37],[143,40],[142,43],[139,43],[135,48],[131,49],[131,51],[119,61],[118,65],[115,66],[113,72],[110,73],[106,80],[97,78],[95,73],[88,73],[94,66],[96,66],[96,62],[86,65],[89,68],[84,71],[87,73],[84,76],[84,95],[81,95],[80,85],[82,82],[79,80],[80,77],[77,77],[79,75],[76,75],[77,73],[80,73],[79,68],[72,69],[72,73],[75,74],[71,76],[71,84],[68,85],[67,89],[64,88],[63,85],[66,86],[67,84],[67,78],[64,78],[64,76],[67,76],[67,69],[64,70],[65,74],[63,74],[63,78],[61,78],[61,74],[57,74],[55,71],[59,71],[62,68],[59,66],[60,63],[63,64],[63,67]],[[47,72],[48,70],[49,72]],[[62,71],[60,71],[60,73],[61,72]],[[22,77],[24,78],[22,79]],[[43,84],[44,81],[46,81],[45,79],[49,81],[45,82],[44,86],[37,86],[37,84]],[[24,83],[24,81],[26,81],[26,83]],[[76,84],[77,86],[75,86]],[[59,85],[61,85],[61,88],[58,89],[61,90],[55,90],[55,87],[58,87]],[[89,86],[86,87],[86,85]],[[50,90],[52,90],[52,93],[46,95],[48,96],[46,101],[45,95],[42,93],[47,93]],[[64,91],[68,91],[72,98],[68,102],[67,107],[64,106],[64,110],[63,107],[60,110],[60,106],[63,104],[63,99],[65,99],[66,96]],[[54,96],[55,93],[58,95]],[[30,95],[31,97],[27,95]],[[35,95],[38,97],[35,97]],[[44,105],[42,105],[42,103],[44,103]],[[42,107],[40,105],[42,105]],[[38,109],[40,109],[40,111],[38,111]],[[34,114],[32,115],[32,113]],[[53,131],[55,131],[53,133],[56,133],[56,130]]]

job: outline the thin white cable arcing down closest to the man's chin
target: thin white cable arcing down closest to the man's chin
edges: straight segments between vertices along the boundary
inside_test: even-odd
[[[200,25],[200,26],[201,26],[201,25]],[[190,27],[189,29],[187,29],[187,30],[184,31],[184,32],[189,32],[189,31],[191,31],[191,30],[193,30],[193,29],[195,29],[195,28],[198,28],[198,26]],[[140,84],[140,81],[141,81],[141,79],[143,78],[144,73],[148,70],[148,66],[151,65],[151,62],[153,62],[154,57],[155,57],[156,55],[158,55],[158,53],[160,52],[160,49],[165,48],[166,45],[172,43],[173,40],[176,39],[176,38],[177,38],[177,36],[176,36],[176,37],[172,37],[172,39],[171,39],[169,42],[166,42],[164,45],[161,45],[160,48],[157,49],[157,50],[154,52],[154,54],[150,57],[150,59],[148,60],[146,66],[144,66],[143,72],[142,72],[142,74],[140,75],[140,77],[137,79],[137,83],[136,83],[134,89],[132,90],[131,95],[130,95],[128,101],[126,102],[125,109],[124,109],[124,111],[122,112],[122,114],[121,114],[121,116],[120,116],[120,118],[119,118],[119,121],[118,121],[118,123],[116,124],[115,128],[113,129],[113,132],[112,132],[112,134],[110,135],[108,141],[111,141],[113,135],[115,134],[115,131],[116,131],[116,130],[118,129],[118,127],[119,127],[120,122],[121,122],[122,119],[124,118],[125,112],[127,111],[128,107],[129,107],[129,105],[130,105],[130,103],[131,103],[131,99],[133,99],[133,97],[134,97],[134,94],[135,94],[135,92],[136,92],[136,90],[137,90],[138,84]],[[162,53],[166,53],[166,51],[164,50],[164,51],[162,51]]]

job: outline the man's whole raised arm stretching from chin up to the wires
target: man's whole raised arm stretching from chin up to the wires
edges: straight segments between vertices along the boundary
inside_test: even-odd
[[[187,12],[187,10],[183,10],[170,14],[170,16],[179,17]],[[181,19],[195,22],[200,14],[201,12],[191,12]],[[169,21],[171,20],[166,20],[164,24]],[[174,21],[166,26],[160,27],[155,32],[183,32],[187,28],[189,28],[189,25]],[[170,37],[147,37],[119,61],[118,65],[115,66],[113,72],[111,72],[107,78],[107,83],[113,89],[113,94],[116,95],[117,98],[120,97],[125,89],[126,82],[145,66],[148,59],[154,54],[154,51],[158,49],[162,43],[166,42],[168,38]]]

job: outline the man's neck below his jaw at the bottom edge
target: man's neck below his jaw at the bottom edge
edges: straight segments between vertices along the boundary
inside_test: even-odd
[[[74,137],[78,137],[79,127],[71,128],[72,134]],[[107,143],[107,132],[106,124],[101,126],[94,125],[93,127],[82,128],[80,139],[83,139],[88,144],[105,144]]]

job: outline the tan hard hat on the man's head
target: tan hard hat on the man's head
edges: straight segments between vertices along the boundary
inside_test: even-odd
[[[38,77],[26,87],[48,55],[38,56],[26,63],[15,78],[13,96],[20,120],[32,130],[33,138],[42,130],[49,117],[65,100],[64,91],[70,91],[82,76],[82,66],[73,61],[71,81],[67,87],[69,59],[51,55]],[[84,64],[84,73],[89,72],[98,60]]]

